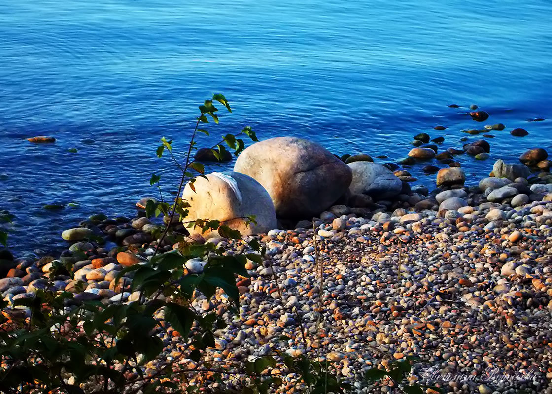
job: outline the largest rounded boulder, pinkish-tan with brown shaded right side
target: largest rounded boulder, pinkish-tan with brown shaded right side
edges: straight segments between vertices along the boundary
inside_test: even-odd
[[[351,169],[316,142],[277,137],[254,143],[236,159],[234,171],[265,189],[280,217],[312,217],[346,193]]]

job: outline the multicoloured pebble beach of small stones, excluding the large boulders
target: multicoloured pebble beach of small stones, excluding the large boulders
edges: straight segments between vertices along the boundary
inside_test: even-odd
[[[431,376],[438,377],[434,383],[442,380],[445,391],[544,392],[552,379],[547,367],[552,365],[552,184],[535,185],[521,178],[484,178],[478,186],[376,201],[375,214],[367,207],[336,205],[315,220],[316,237],[305,221],[299,223],[305,227],[256,237],[267,246],[263,265],[248,262],[251,277],[238,282],[240,315],[218,333],[216,348],[208,349],[206,360],[240,363],[251,355],[285,349],[301,354],[302,324],[315,338],[309,350],[318,349],[321,356],[336,361],[344,379],[353,382],[358,381],[355,373],[371,366],[415,355],[422,361],[414,376],[421,379],[427,376],[422,370],[433,368]],[[515,194],[497,192],[505,188],[513,188]],[[496,201],[489,202],[489,196]],[[121,268],[152,254],[147,247],[134,253],[131,241],[150,242],[156,226],[145,217],[126,223],[100,216],[92,220],[127,250],[120,253],[123,249],[114,244],[108,244],[108,250],[76,241],[60,260],[76,263],[75,280],[87,281],[87,290],[77,292],[75,280],[68,276],[54,283],[59,290],[76,292],[76,300],[106,305],[136,300],[137,294],[115,286],[113,279]],[[247,250],[246,244],[222,238],[207,242],[227,253]],[[49,260],[16,259],[12,278],[0,279],[3,298],[32,297],[46,284]],[[317,311],[319,264],[324,279]],[[229,317],[226,306],[227,297],[221,293],[212,302],[195,305]],[[282,335],[289,339],[276,339]],[[169,357],[183,351],[178,337],[163,340]],[[185,362],[193,365],[192,360]],[[155,370],[157,363],[147,365],[146,371]],[[490,367],[500,370],[496,376],[529,376],[530,371],[537,384],[507,377],[485,379]],[[278,364],[276,369],[284,367]],[[449,383],[444,381],[446,374],[475,377]],[[286,379],[286,389],[291,390],[293,376]],[[378,387],[370,392],[385,392]]]

